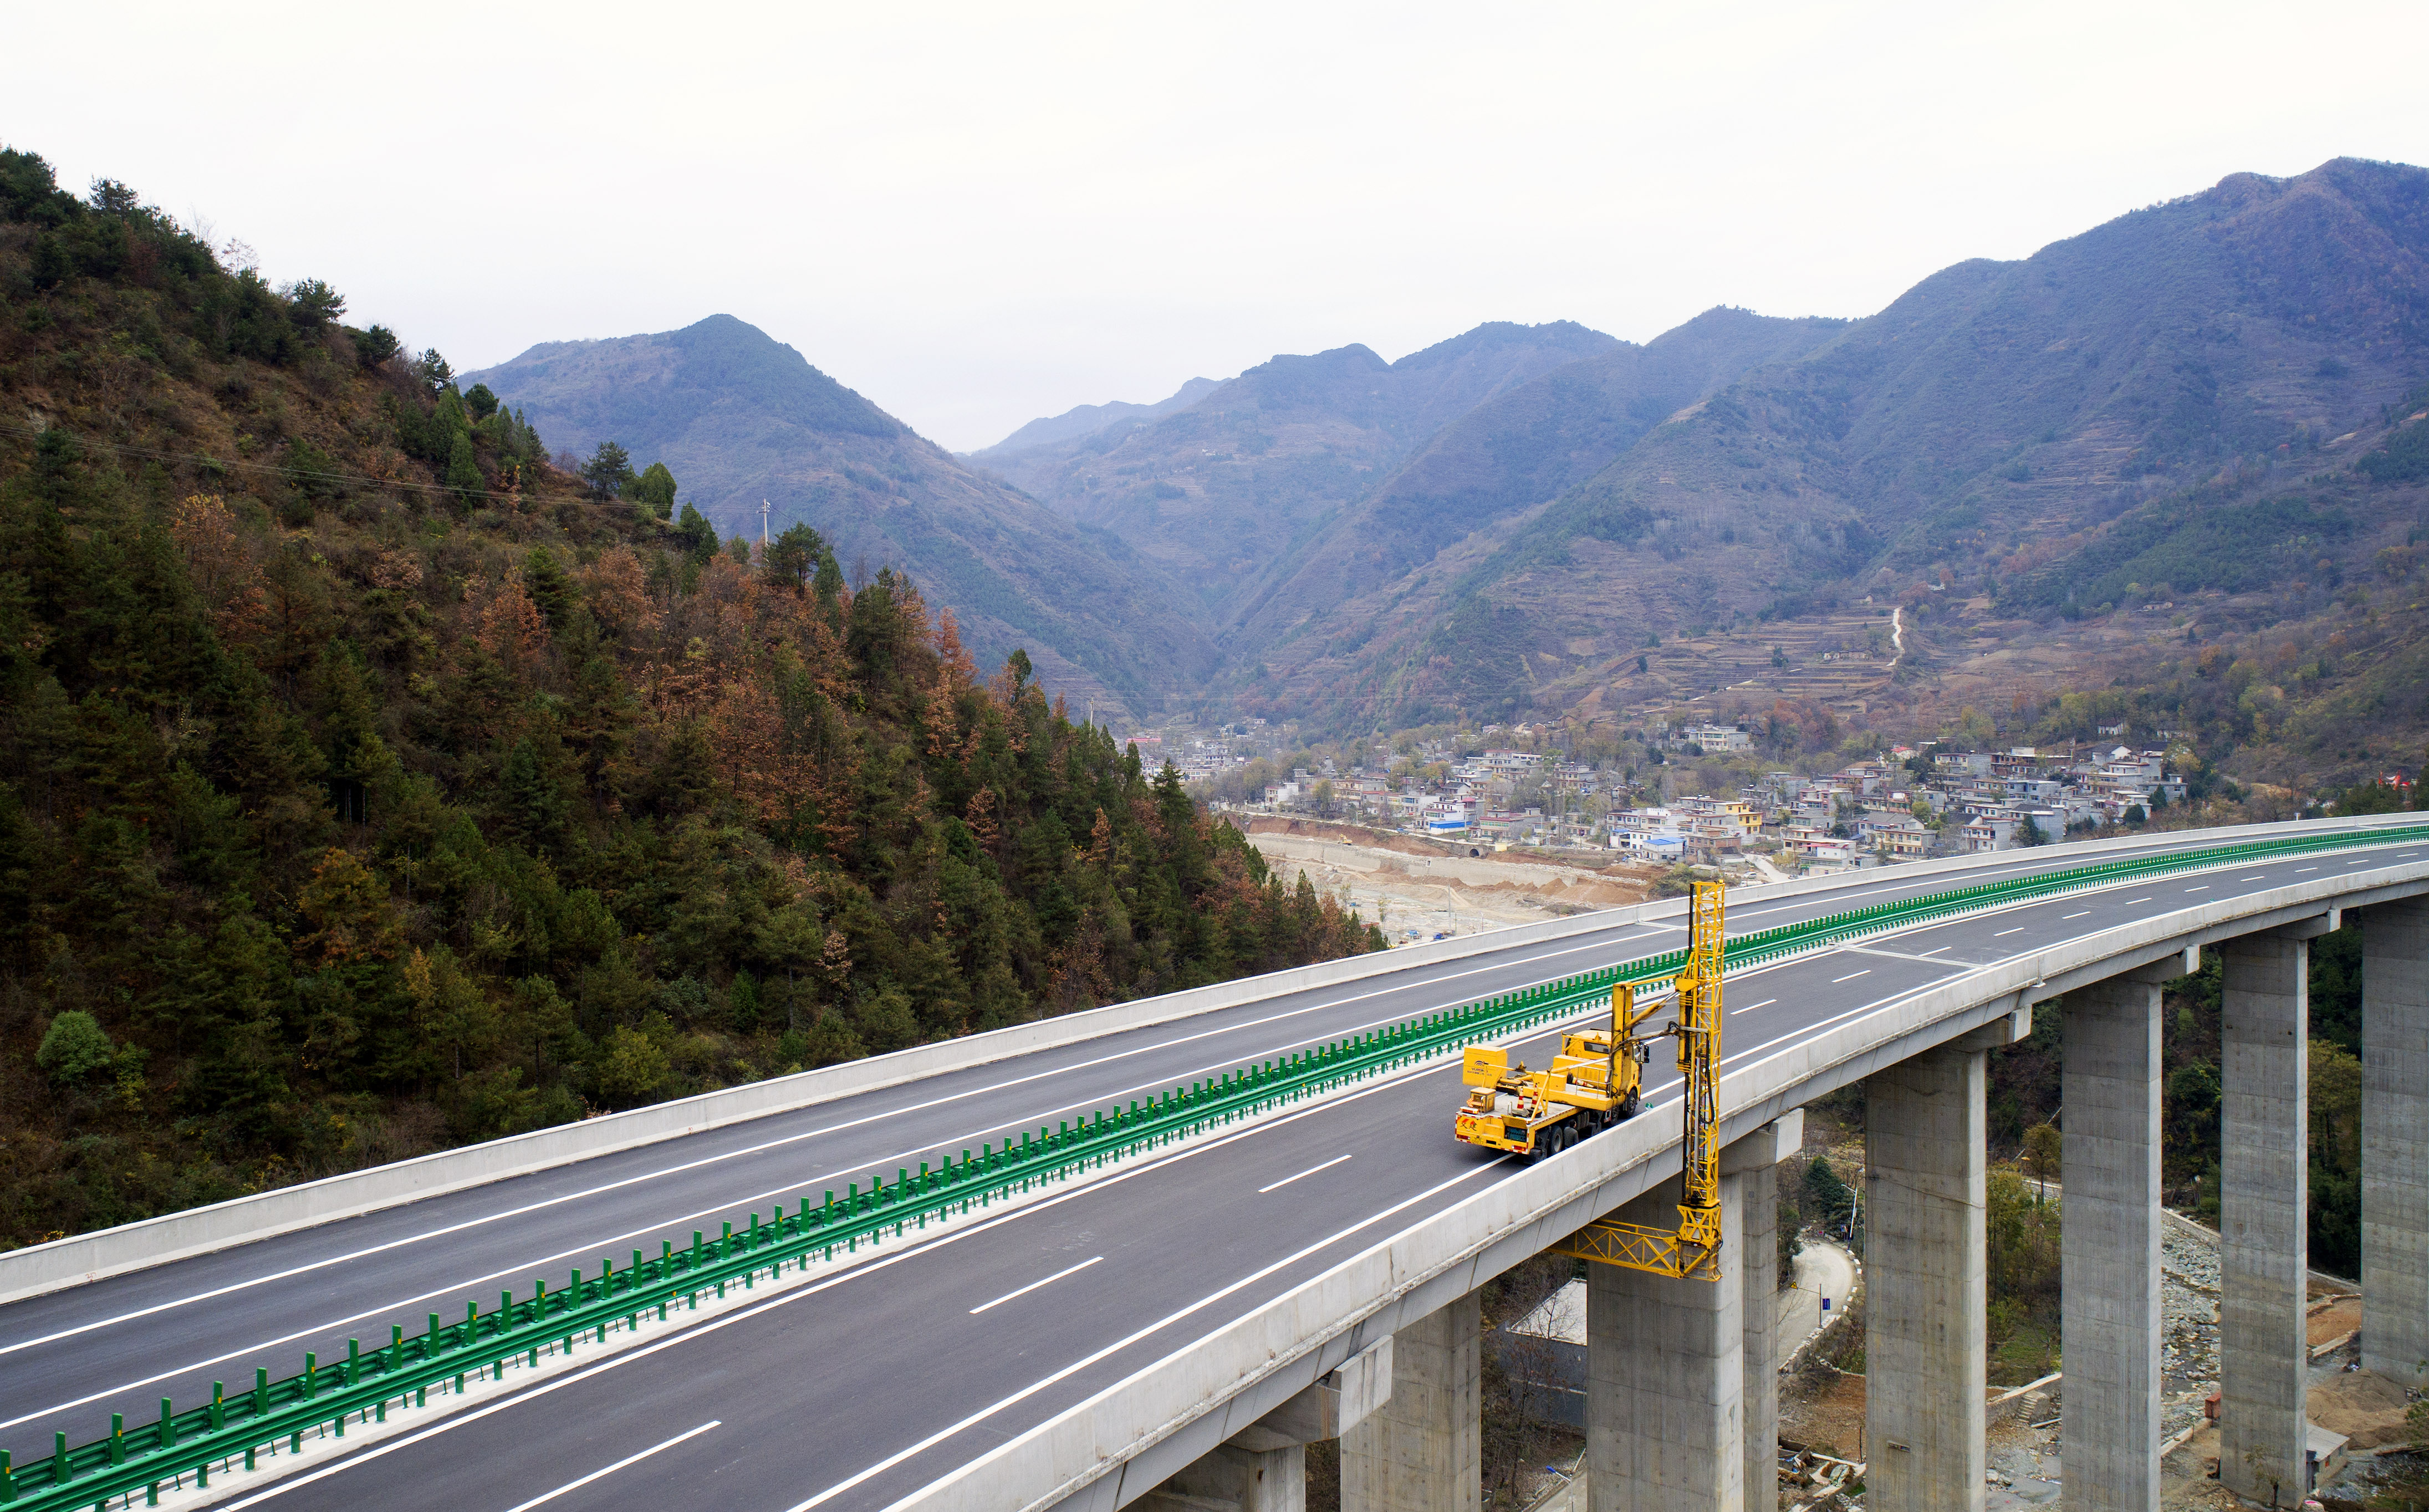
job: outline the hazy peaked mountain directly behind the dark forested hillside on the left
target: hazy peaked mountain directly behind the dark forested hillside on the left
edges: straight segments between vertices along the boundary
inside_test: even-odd
[[[989,663],[1023,646],[1049,689],[1139,711],[1195,687],[1212,646],[1190,599],[1105,532],[913,434],[734,316],[683,330],[547,342],[464,383],[522,408],[551,447],[617,442],[673,468],[724,534],[804,522],[836,556],[891,563],[950,604]]]

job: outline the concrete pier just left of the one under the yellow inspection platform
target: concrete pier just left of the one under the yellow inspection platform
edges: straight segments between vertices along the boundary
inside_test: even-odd
[[[1341,1434],[1341,1512],[1477,1512],[1482,1325],[1470,1291],[1392,1335],[1392,1398]]]

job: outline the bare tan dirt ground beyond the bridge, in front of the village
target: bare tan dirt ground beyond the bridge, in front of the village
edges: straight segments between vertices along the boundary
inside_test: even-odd
[[[1392,944],[1620,908],[1654,888],[1649,866],[1572,864],[1363,825],[1256,815],[1246,830],[1285,883],[1304,871],[1319,893],[1382,922]]]

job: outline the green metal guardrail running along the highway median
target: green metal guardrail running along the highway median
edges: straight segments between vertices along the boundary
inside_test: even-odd
[[[1727,964],[1732,968],[1754,966],[1941,917],[2142,876],[2385,845],[2402,837],[2429,840],[2429,832],[2422,825],[2380,825],[2288,835],[1948,888],[1739,934],[1727,942]],[[697,1308],[702,1296],[721,1298],[731,1286],[753,1289],[760,1277],[782,1277],[785,1267],[799,1272],[814,1262],[833,1260],[838,1250],[850,1255],[860,1245],[877,1247],[887,1238],[901,1240],[928,1228],[930,1221],[942,1223],[950,1216],[984,1211],[998,1199],[1069,1180],[1125,1155],[1168,1146],[1387,1070],[1457,1053],[1477,1039],[1504,1039],[1576,1017],[1603,1002],[1618,983],[1659,983],[1683,964],[1686,951],[1669,951],[1421,1014],[1317,1051],[1219,1073],[1190,1082],[1185,1090],[1176,1087],[1151,1097],[1144,1107],[1132,1102],[1127,1109],[1095,1109],[1059,1121],[1035,1136],[1023,1131],[1018,1148],[1006,1138],[1001,1150],[991,1143],[981,1146],[976,1155],[962,1150],[959,1160],[945,1158],[935,1170],[928,1163],[921,1163],[916,1175],[908,1167],[896,1170],[891,1184],[884,1177],[872,1177],[867,1192],[853,1182],[840,1199],[833,1192],[821,1206],[802,1199],[792,1213],[777,1206],[765,1223],[753,1211],[738,1233],[734,1223],[724,1223],[724,1233],[714,1240],[695,1230],[687,1250],[678,1250],[673,1243],[661,1243],[658,1255],[634,1250],[632,1262],[622,1269],[612,1260],[602,1260],[598,1274],[585,1277],[576,1269],[556,1291],[549,1291],[544,1279],[534,1281],[532,1294],[520,1301],[513,1291],[500,1291],[498,1306],[488,1313],[481,1313],[476,1301],[466,1303],[462,1323],[445,1323],[440,1313],[430,1313],[425,1330],[413,1337],[406,1337],[403,1325],[391,1325],[386,1345],[364,1352],[359,1340],[350,1340],[345,1362],[330,1366],[306,1354],[304,1369],[282,1381],[272,1381],[267,1369],[257,1369],[250,1391],[228,1396],[221,1383],[214,1383],[211,1400],[202,1408],[177,1412],[170,1398],[160,1398],[158,1422],[129,1429],[124,1417],[112,1415],[109,1437],[92,1444],[70,1449],[68,1437],[56,1434],[51,1454],[24,1466],[12,1463],[10,1454],[0,1451],[0,1502],[22,1512],[68,1512],[107,1507],[112,1500],[131,1502],[136,1493],[143,1493],[146,1502],[158,1502],[163,1485],[182,1490],[187,1478],[206,1488],[214,1471],[228,1473],[238,1461],[250,1471],[257,1468],[265,1451],[267,1456],[299,1454],[306,1437],[342,1437],[347,1422],[384,1422],[391,1403],[398,1408],[406,1400],[428,1405],[432,1391],[440,1396],[462,1393],[471,1381],[496,1381],[510,1366],[537,1366],[544,1357],[568,1357],[578,1345],[602,1345],[615,1330],[639,1328],[644,1315],[666,1320],[675,1308]]]

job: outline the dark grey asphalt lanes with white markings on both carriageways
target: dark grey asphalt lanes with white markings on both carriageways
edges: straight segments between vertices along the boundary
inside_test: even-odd
[[[2142,852],[2215,845],[2152,842]],[[2111,852],[2099,859],[2113,859]],[[1729,978],[1725,1068],[1984,964],[2329,871],[2429,854],[2385,845],[2123,883],[1924,925]],[[1851,874],[1729,908],[1729,932],[1967,881],[2087,864],[2050,847],[1965,876]],[[211,1381],[301,1369],[306,1349],[384,1342],[389,1323],[462,1318],[466,1298],[585,1274],[607,1255],[821,1199],[1249,1061],[1491,993],[1676,949],[1652,920],[1411,966],[1338,988],[1091,1039],[602,1155],[0,1308],[0,1446],[51,1444],[206,1400]],[[1540,1056],[1557,1029],[1518,1041]],[[1676,1119],[1654,1058],[1642,1116]],[[1074,1182],[585,1369],[435,1417],[425,1429],[250,1493],[284,1507],[887,1507],[1112,1381],[1183,1349],[1329,1264],[1511,1175],[1450,1138],[1457,1065],[1409,1070],[1224,1138]]]

